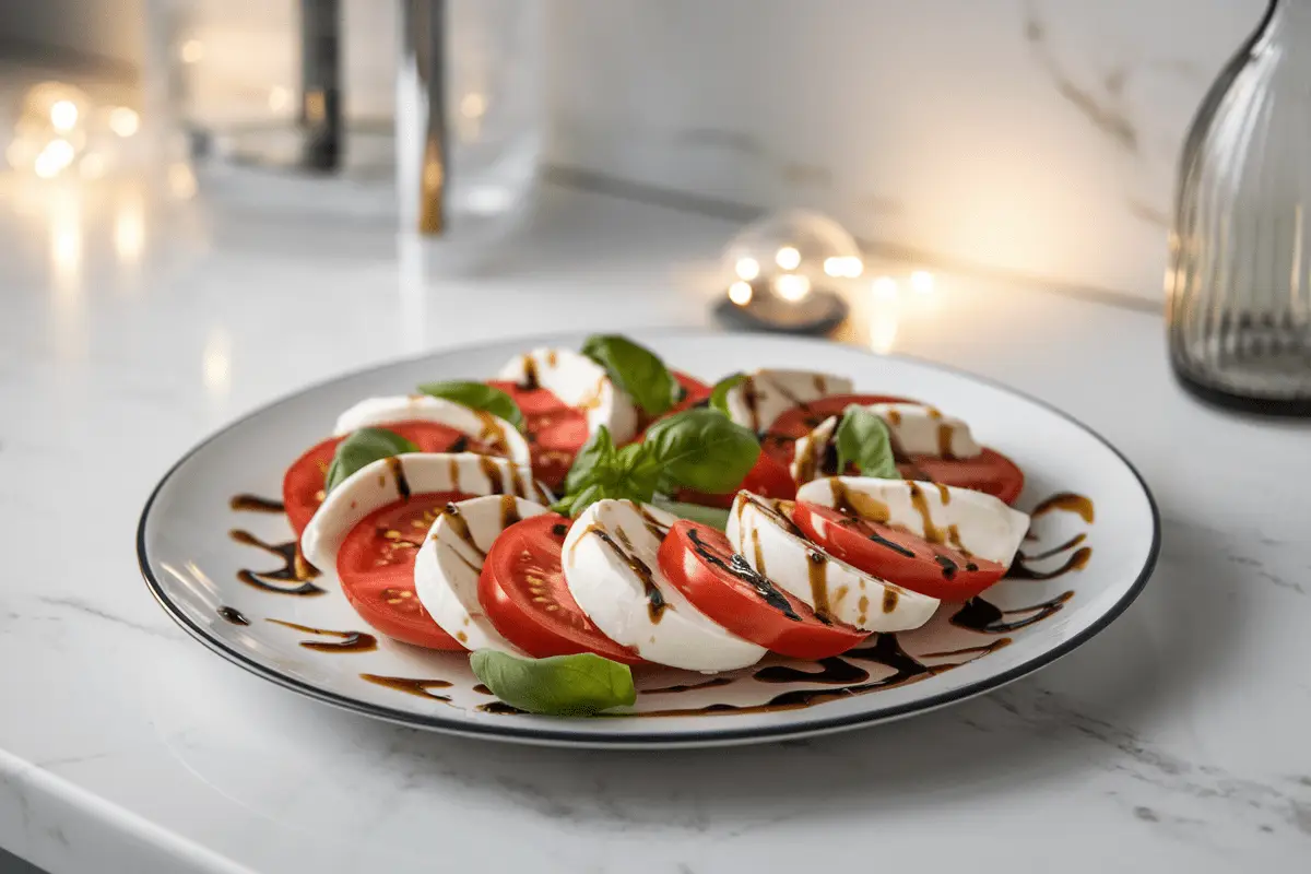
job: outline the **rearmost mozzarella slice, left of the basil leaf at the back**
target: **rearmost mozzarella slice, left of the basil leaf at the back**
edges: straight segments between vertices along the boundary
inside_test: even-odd
[[[587,415],[587,434],[602,425],[615,443],[627,443],[637,434],[637,408],[610,375],[586,355],[568,349],[535,349],[515,355],[501,368],[501,379],[549,390],[569,406]]]

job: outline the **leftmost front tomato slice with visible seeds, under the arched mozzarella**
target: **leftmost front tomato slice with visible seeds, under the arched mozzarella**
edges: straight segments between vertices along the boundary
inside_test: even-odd
[[[446,504],[469,497],[459,491],[413,495],[375,510],[350,529],[337,553],[337,575],[361,618],[405,643],[464,649],[418,603],[414,556]]]

